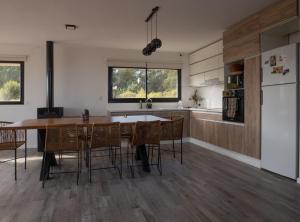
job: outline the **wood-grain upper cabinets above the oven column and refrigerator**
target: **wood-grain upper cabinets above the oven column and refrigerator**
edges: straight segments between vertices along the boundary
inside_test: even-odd
[[[256,56],[261,51],[260,33],[298,15],[297,0],[281,0],[232,25],[223,33],[224,62]]]

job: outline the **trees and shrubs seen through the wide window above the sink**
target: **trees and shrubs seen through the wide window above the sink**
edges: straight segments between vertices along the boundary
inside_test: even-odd
[[[147,98],[177,98],[177,70],[148,69],[147,89]],[[146,98],[146,69],[113,68],[112,92],[113,98]]]

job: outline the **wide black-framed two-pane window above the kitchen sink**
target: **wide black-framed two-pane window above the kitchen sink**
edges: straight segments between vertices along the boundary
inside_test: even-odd
[[[177,102],[181,99],[180,69],[108,67],[110,103]]]

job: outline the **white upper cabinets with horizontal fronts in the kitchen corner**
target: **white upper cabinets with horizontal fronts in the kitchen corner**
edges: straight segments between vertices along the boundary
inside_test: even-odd
[[[224,82],[223,41],[203,47],[189,56],[190,85],[217,85]]]

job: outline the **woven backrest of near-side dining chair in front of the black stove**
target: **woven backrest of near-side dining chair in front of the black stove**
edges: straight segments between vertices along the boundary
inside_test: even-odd
[[[78,128],[76,125],[51,126],[46,129],[45,151],[77,151]]]

